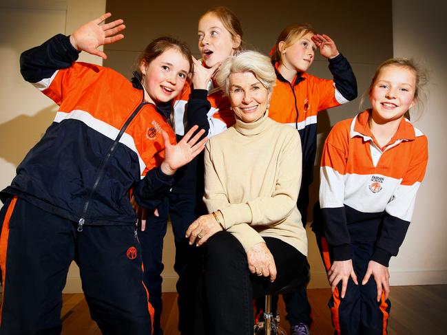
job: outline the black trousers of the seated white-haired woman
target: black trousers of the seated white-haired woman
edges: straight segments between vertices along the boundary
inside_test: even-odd
[[[205,244],[204,308],[211,328],[205,334],[252,335],[253,298],[273,294],[293,279],[309,275],[301,252],[280,239],[264,237],[264,241],[278,271],[273,283],[249,272],[247,253],[230,233],[216,233]]]

